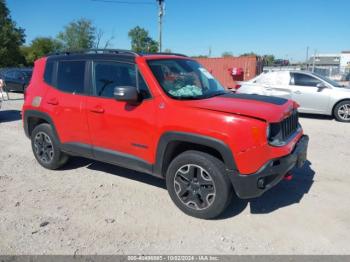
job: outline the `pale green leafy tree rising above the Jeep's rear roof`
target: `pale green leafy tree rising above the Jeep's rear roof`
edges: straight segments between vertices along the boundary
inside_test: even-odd
[[[57,39],[67,50],[91,49],[95,46],[96,27],[91,20],[80,18],[69,23]]]

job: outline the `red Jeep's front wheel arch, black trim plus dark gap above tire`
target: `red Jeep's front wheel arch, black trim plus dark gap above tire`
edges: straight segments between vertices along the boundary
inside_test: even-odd
[[[164,177],[172,159],[187,150],[209,153],[222,160],[228,170],[237,170],[232,152],[223,141],[186,132],[167,132],[158,142],[154,174]]]

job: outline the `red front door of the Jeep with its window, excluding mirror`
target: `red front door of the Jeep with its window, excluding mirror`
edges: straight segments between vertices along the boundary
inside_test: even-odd
[[[94,61],[94,96],[87,98],[88,125],[97,159],[117,163],[147,165],[153,161],[154,101],[135,64]],[[130,104],[114,99],[117,86],[136,86],[143,99]]]

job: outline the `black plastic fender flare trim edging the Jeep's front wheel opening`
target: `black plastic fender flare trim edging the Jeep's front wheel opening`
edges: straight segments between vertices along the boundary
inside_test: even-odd
[[[172,131],[172,132],[164,133],[159,139],[157,152],[156,152],[156,161],[155,161],[154,171],[153,171],[154,174],[157,176],[163,177],[162,173],[163,173],[164,156],[165,156],[167,147],[171,142],[188,142],[188,143],[193,143],[193,144],[198,144],[198,145],[203,145],[203,146],[213,148],[221,154],[224,160],[224,164],[226,165],[226,168],[228,171],[237,170],[237,166],[233,158],[232,151],[225,142],[213,137],[208,137],[208,136],[203,136],[203,135],[198,135],[193,133]]]

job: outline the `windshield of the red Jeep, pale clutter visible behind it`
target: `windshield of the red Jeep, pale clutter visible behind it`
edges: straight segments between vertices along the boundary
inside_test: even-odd
[[[193,60],[151,60],[148,64],[158,83],[172,98],[203,99],[226,93],[220,83]]]

